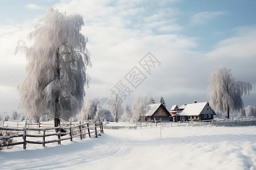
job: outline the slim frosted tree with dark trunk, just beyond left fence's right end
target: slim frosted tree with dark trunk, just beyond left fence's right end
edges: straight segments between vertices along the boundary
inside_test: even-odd
[[[119,117],[122,113],[122,100],[118,95],[110,96],[111,100],[109,100],[109,111],[112,113],[116,122],[118,122]]]

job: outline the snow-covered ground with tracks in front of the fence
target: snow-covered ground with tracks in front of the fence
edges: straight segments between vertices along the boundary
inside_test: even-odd
[[[256,169],[256,127],[163,128],[162,138],[159,126],[104,132],[45,148],[14,146],[0,151],[0,169]]]

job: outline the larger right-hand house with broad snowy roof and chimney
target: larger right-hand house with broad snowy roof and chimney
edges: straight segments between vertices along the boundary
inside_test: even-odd
[[[175,122],[177,121],[203,121],[213,120],[213,115],[216,113],[210,108],[208,102],[189,103],[180,113],[175,114]]]

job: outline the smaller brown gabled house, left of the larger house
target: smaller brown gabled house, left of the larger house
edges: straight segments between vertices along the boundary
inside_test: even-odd
[[[149,104],[147,108],[146,119],[148,121],[159,120],[160,118],[162,118],[162,120],[172,121],[170,112],[167,111],[163,104]]]

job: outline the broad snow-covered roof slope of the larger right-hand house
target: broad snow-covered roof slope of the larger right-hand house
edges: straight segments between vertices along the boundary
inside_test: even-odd
[[[208,102],[187,104],[180,116],[199,116]]]

